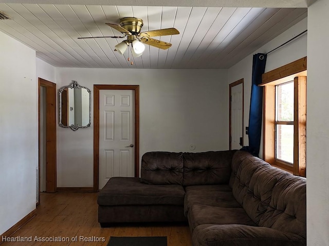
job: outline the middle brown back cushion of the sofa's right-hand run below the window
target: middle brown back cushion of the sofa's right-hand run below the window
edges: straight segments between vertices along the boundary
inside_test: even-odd
[[[259,225],[268,210],[273,188],[287,175],[290,174],[270,166],[258,157],[247,157],[242,161],[234,179],[233,196]]]

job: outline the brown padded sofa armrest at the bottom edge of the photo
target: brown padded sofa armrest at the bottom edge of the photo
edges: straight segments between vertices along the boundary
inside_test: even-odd
[[[306,239],[267,227],[202,224],[192,234],[193,246],[305,246]]]

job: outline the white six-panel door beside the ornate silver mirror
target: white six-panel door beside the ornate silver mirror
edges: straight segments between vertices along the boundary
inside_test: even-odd
[[[99,189],[111,177],[134,177],[134,91],[99,91]]]

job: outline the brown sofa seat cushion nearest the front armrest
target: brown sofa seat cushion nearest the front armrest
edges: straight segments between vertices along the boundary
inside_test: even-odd
[[[243,208],[221,208],[203,204],[190,207],[188,220],[191,232],[200,224],[246,224],[257,226]]]

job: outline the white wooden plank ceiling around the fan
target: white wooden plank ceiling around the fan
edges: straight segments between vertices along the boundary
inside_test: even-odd
[[[233,8],[5,4],[0,31],[36,51],[55,67],[229,68],[307,16],[306,8]],[[146,46],[142,56],[114,51],[124,39],[78,39],[121,35],[105,23],[121,17],[143,19],[142,31],[175,27],[180,34],[155,37],[168,50]],[[133,65],[127,61],[133,59]]]

